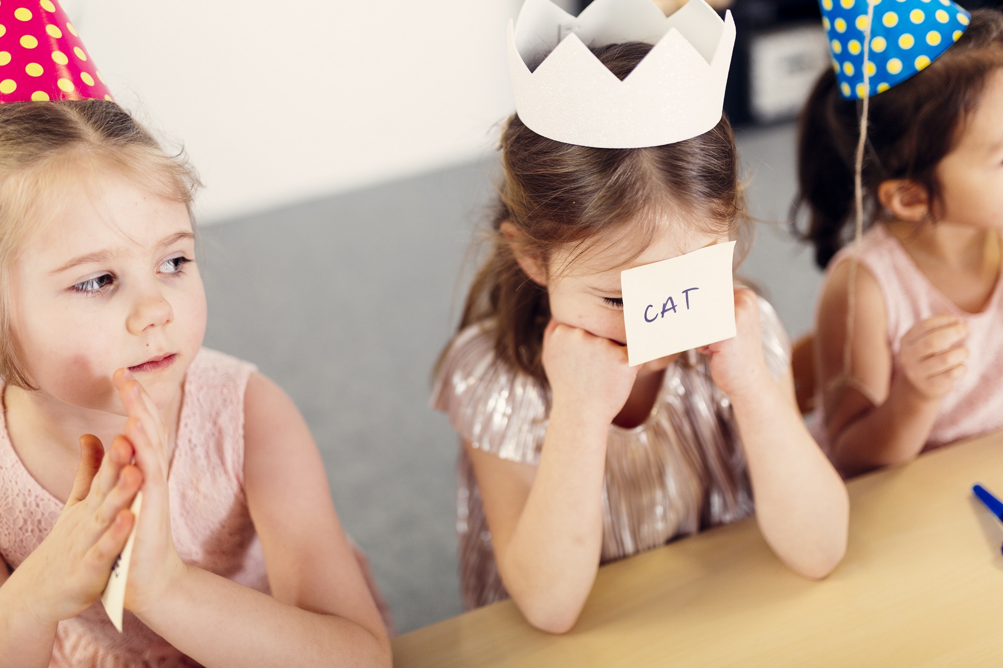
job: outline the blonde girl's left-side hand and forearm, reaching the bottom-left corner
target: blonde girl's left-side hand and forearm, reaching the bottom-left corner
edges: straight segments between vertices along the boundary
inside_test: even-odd
[[[131,458],[126,443],[104,454],[96,437],[81,437],[73,489],[52,531],[14,573],[0,560],[0,665],[48,666],[57,624],[101,596],[132,529],[128,507],[142,476]]]

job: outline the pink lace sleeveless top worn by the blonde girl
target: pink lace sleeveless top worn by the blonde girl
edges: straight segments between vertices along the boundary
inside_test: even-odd
[[[244,496],[244,390],[253,371],[206,348],[192,362],[168,475],[171,533],[186,564],[268,593]],[[16,569],[62,509],[21,463],[0,413],[0,557]],[[199,665],[128,611],[122,628],[115,631],[100,602],[60,622],[50,668]]]

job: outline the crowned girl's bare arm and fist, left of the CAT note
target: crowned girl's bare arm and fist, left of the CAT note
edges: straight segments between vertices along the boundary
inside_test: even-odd
[[[539,466],[464,446],[506,589],[527,621],[564,633],[599,569],[606,441],[637,371],[625,348],[553,322],[544,366],[554,398]]]

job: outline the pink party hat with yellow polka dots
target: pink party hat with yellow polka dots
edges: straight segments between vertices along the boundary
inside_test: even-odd
[[[0,103],[111,99],[59,0],[0,0]]]

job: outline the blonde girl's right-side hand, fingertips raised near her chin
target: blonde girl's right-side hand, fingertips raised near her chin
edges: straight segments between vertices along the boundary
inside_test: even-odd
[[[115,440],[134,448],[135,462],[144,479],[142,509],[125,583],[125,608],[141,617],[186,569],[171,537],[166,453],[170,432],[156,404],[131,373],[118,369],[112,380],[128,412],[125,433]]]

